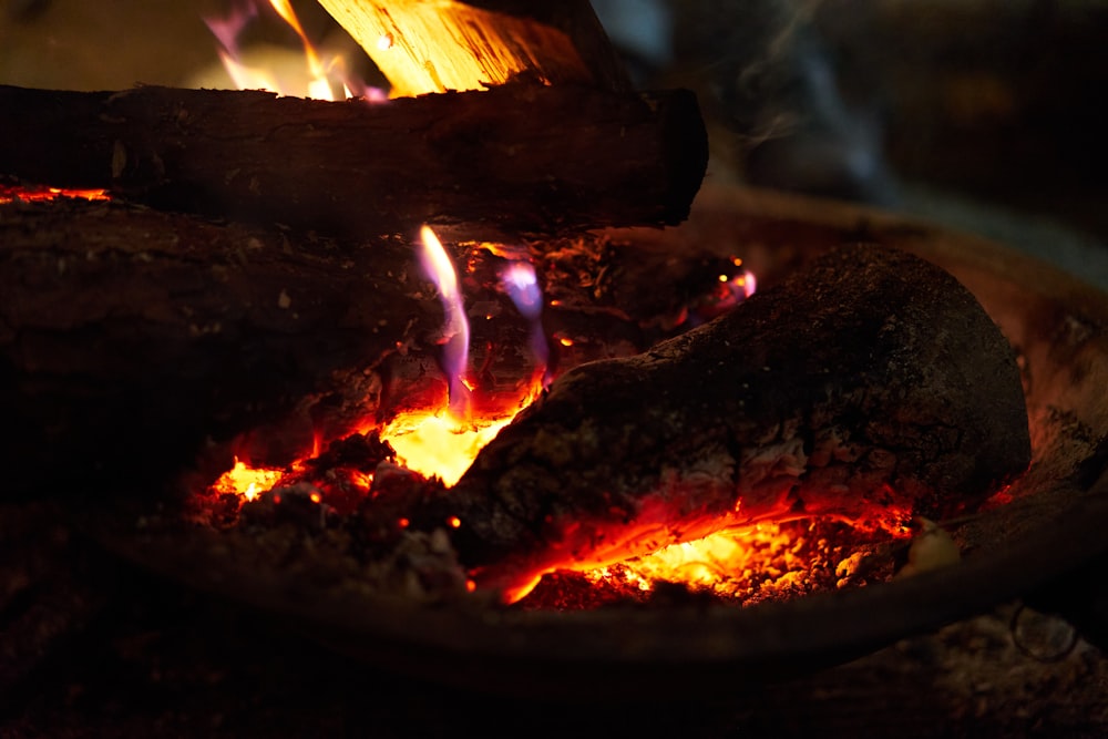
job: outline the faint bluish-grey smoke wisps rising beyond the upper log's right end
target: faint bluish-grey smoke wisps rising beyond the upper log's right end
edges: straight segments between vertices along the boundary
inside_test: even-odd
[[[669,2],[677,81],[715,124],[717,158],[761,186],[892,202],[881,126],[843,99],[822,0]]]

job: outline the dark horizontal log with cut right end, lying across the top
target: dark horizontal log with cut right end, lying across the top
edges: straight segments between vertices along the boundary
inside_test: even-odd
[[[674,224],[707,163],[691,93],[562,85],[369,104],[0,85],[0,174],[319,232]]]

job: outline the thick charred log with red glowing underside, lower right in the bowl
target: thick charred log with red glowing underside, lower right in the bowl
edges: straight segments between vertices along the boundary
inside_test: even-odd
[[[1029,443],[1014,352],[974,297],[859,246],[644,355],[567,372],[406,515],[452,522],[479,585],[514,598],[555,568],[759,521],[945,516],[1023,472]]]

